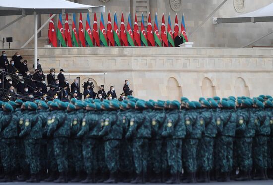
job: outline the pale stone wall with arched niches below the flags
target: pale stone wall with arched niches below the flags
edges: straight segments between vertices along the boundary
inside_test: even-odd
[[[19,51],[32,69],[33,50]],[[39,48],[38,58],[45,72],[64,69],[70,82],[107,73],[91,75],[96,91],[104,84],[121,93],[128,79],[133,95],[143,99],[273,95],[273,50],[267,48]]]

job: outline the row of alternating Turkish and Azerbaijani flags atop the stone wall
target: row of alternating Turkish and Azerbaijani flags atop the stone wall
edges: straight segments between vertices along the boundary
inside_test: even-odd
[[[50,15],[52,16],[52,15]],[[57,33],[56,33],[57,32]],[[85,29],[83,28],[82,14],[79,17],[79,27],[76,29],[76,14],[73,14],[72,30],[68,22],[68,14],[63,27],[62,15],[59,14],[58,28],[54,27],[54,19],[49,21],[48,39],[53,47],[108,47],[108,46],[151,46],[151,47],[174,47],[174,38],[181,33],[184,42],[188,42],[184,15],[179,30],[178,18],[175,16],[174,30],[172,31],[170,14],[168,17],[167,30],[165,26],[164,13],[159,32],[157,13],[155,14],[154,26],[152,28],[151,14],[149,13],[147,29],[145,29],[144,16],[142,13],[141,26],[139,29],[137,15],[135,14],[134,27],[131,24],[131,15],[128,15],[127,26],[125,26],[123,13],[121,15],[120,29],[118,27],[117,14],[114,14],[114,26],[112,27],[111,15],[108,13],[107,27],[104,26],[103,14],[101,13],[98,28],[97,15],[94,13],[93,28],[91,28],[89,13],[87,13]]]

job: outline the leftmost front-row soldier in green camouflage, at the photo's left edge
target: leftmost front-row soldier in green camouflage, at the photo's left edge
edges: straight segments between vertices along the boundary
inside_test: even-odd
[[[13,108],[9,103],[2,104],[3,112],[0,118],[0,145],[1,159],[5,177],[0,182],[12,182],[15,173],[15,137],[17,136],[17,117],[13,114]]]

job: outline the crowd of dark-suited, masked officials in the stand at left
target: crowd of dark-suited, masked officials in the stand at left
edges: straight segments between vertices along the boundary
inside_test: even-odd
[[[84,82],[84,91],[81,93],[78,79],[74,79],[74,82],[70,86],[68,79],[65,78],[65,71],[63,69],[60,69],[57,78],[54,69],[51,69],[50,73],[45,76],[39,59],[37,60],[37,69],[35,69],[34,74],[31,74],[27,66],[27,60],[23,60],[23,57],[20,56],[18,52],[16,52],[15,55],[12,56],[12,60],[9,61],[6,52],[2,51],[2,55],[0,56],[0,69],[1,72],[5,72],[0,75],[0,92],[2,92],[0,94],[0,100],[3,101],[14,101],[20,98],[30,101],[34,101],[35,99],[44,101],[60,99],[64,102],[69,102],[70,98],[81,100],[82,97],[84,99],[91,98],[101,101],[105,99],[119,99],[122,101],[125,96],[131,95],[133,92],[129,88],[129,81],[125,80],[123,93],[120,94],[119,97],[116,95],[114,86],[110,86],[110,90],[106,93],[104,85],[102,85],[100,90],[96,93],[93,90],[92,79],[89,78],[87,82]],[[7,76],[11,78],[7,79]],[[49,87],[49,89],[47,87]]]

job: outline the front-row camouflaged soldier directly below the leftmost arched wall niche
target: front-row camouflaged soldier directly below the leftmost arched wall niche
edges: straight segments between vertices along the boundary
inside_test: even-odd
[[[180,103],[171,101],[170,111],[166,114],[162,137],[167,142],[167,159],[171,178],[166,183],[179,183],[182,173],[182,139],[185,137],[184,117],[181,117]]]

